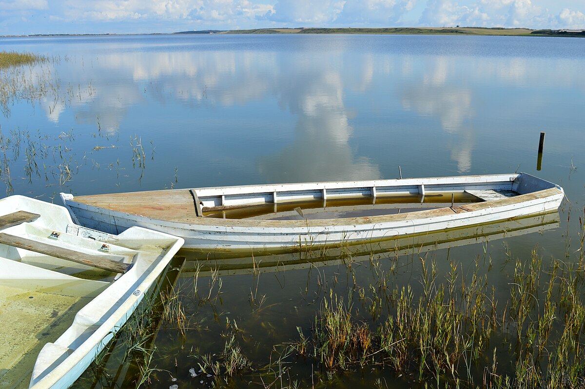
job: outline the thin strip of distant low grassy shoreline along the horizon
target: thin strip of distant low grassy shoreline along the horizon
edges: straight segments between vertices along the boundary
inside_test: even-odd
[[[501,27],[386,27],[386,28],[267,28],[250,30],[192,30],[175,33],[143,33],[143,34],[33,34],[4,35],[1,37],[50,37],[50,36],[132,36],[132,35],[214,35],[214,34],[384,34],[384,35],[467,35],[467,36],[559,36],[585,37],[585,30],[532,30],[527,28]]]

